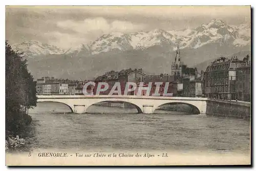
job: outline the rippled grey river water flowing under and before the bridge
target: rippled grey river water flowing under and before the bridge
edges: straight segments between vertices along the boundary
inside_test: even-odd
[[[31,150],[176,150],[217,153],[250,151],[250,122],[243,119],[202,117],[157,110],[93,105],[88,113],[69,113],[64,104],[37,103],[29,137]]]

